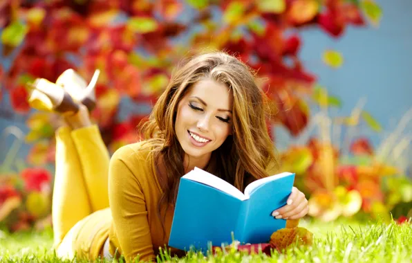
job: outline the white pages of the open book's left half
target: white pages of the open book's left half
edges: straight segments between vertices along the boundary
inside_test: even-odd
[[[182,176],[182,178],[196,181],[198,183],[204,183],[205,185],[209,185],[212,188],[221,190],[222,192],[230,194],[232,195],[232,197],[236,197],[240,200],[246,199],[245,194],[243,194],[233,185],[227,183],[227,181],[223,179],[218,178],[218,176],[214,176],[213,174],[210,174],[209,172],[206,172],[205,170],[202,170],[198,167],[195,167],[194,170],[191,170],[191,172],[188,172],[187,174]]]

